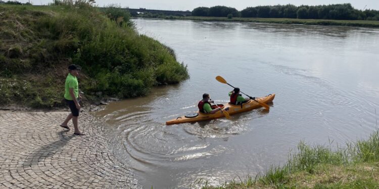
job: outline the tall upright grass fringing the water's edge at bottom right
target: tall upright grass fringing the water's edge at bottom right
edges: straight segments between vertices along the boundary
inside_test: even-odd
[[[331,145],[331,143],[329,142]],[[270,168],[260,178],[266,185],[280,185],[289,181],[289,174],[305,171],[316,173],[320,165],[344,165],[357,162],[379,161],[379,130],[372,133],[367,140],[347,143],[346,148],[333,150],[324,146],[309,146],[304,142],[298,145],[298,151],[290,155],[289,161],[282,167]]]

